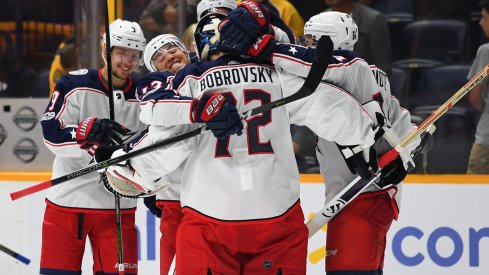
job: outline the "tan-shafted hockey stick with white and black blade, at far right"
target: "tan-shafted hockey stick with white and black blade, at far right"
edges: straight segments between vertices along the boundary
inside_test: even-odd
[[[421,123],[416,131],[413,131],[407,137],[405,137],[399,145],[396,146],[396,150],[401,152],[402,148],[405,148],[413,140],[418,138],[421,134],[427,132],[432,133],[434,131],[433,124],[450,108],[455,105],[464,95],[466,95],[475,85],[481,82],[489,73],[489,64],[480,70],[474,77],[472,77],[462,88],[460,88],[455,94],[453,94],[445,103],[443,103],[438,109],[436,109],[427,119]],[[419,147],[418,147],[419,148]],[[413,153],[417,153],[416,151]],[[348,203],[350,203],[356,196],[358,196],[363,190],[380,177],[380,173],[374,175],[369,180],[363,180],[360,177],[355,178],[350,182],[339,194],[337,194],[330,202],[328,202],[316,215],[307,222],[307,228],[309,229],[309,238],[313,236],[321,227],[323,227],[329,220],[331,220],[341,209],[343,209]]]

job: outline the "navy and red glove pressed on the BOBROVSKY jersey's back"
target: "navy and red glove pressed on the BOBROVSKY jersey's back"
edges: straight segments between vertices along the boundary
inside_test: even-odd
[[[206,123],[216,138],[242,134],[243,123],[238,110],[222,94],[203,95],[195,104],[193,117],[195,122]]]

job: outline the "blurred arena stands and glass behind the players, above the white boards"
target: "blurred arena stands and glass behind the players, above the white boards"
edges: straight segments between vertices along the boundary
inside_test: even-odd
[[[345,1],[270,2],[299,37],[311,16]],[[411,111],[413,122],[422,122],[468,81],[478,47],[488,42],[479,26],[478,2],[357,1],[385,18],[385,41],[374,40],[377,30],[360,30],[359,35],[360,39],[370,39],[371,48],[383,51],[384,60],[377,63],[373,56],[364,58],[386,71],[393,95]],[[160,33],[174,33],[191,47],[189,33],[196,22],[197,3],[198,0],[110,0],[109,18],[139,22],[148,41]],[[104,16],[104,2],[99,0],[2,1],[0,171],[51,169],[52,154],[42,144],[38,121],[62,74],[100,66]],[[140,68],[137,73],[146,71]],[[467,97],[444,115],[437,123],[432,142],[417,160],[415,173],[465,173],[479,116]],[[313,136],[294,129],[292,135],[297,142],[312,144],[296,150],[301,172],[317,173]]]

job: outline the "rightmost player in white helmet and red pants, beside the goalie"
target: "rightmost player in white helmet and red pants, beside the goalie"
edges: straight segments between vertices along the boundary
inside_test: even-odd
[[[404,138],[411,131],[416,130],[416,127],[411,124],[409,112],[403,109],[399,101],[391,95],[386,74],[374,66],[370,71],[365,61],[356,57],[352,51],[357,41],[357,34],[358,28],[353,19],[348,14],[340,12],[323,12],[311,17],[304,26],[308,46],[314,45],[321,35],[329,35],[334,43],[333,54],[335,58],[342,61],[340,64],[350,66],[357,75],[365,71],[367,77],[369,73],[375,76],[378,92],[365,93],[353,89],[352,95],[362,104],[371,104],[372,100],[375,104],[380,103],[394,133]],[[391,146],[379,143],[376,144],[375,149],[380,154],[386,152]],[[409,151],[409,148],[406,150]],[[328,202],[348,185],[355,175],[343,161],[336,144],[330,141],[318,139],[317,157],[326,184],[326,202]],[[328,223],[327,274],[382,274],[386,235],[392,220],[397,219],[400,181],[406,173],[402,163],[397,165],[399,165],[398,170],[384,177],[378,186],[371,185],[367,188]],[[382,188],[391,184],[392,186],[387,189]]]

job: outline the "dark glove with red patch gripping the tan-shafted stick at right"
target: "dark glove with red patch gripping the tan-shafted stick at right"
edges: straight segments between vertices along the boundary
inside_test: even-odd
[[[406,178],[408,173],[401,155],[395,148],[379,157],[379,166],[382,168],[380,172],[381,180],[376,184],[381,188],[389,185],[398,185]]]

